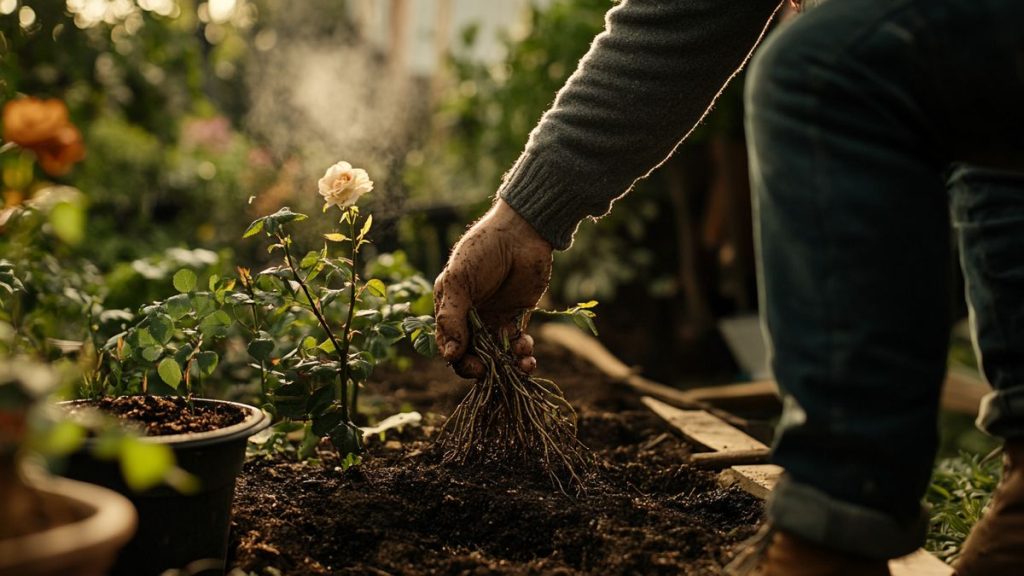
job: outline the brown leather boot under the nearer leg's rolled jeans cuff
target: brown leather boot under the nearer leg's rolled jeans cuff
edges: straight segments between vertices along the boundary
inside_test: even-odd
[[[749,576],[891,576],[889,563],[824,548],[799,536],[775,532],[755,562],[741,558],[726,574]]]

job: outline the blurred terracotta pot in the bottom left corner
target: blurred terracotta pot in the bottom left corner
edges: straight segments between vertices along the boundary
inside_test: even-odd
[[[77,520],[0,539],[0,576],[101,576],[135,530],[135,509],[124,496],[82,482],[40,476],[30,487],[43,505]]]

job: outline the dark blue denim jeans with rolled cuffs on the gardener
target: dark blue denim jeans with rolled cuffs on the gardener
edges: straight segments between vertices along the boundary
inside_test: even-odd
[[[994,387],[979,422],[1024,437],[1024,1],[821,3],[759,50],[746,127],[783,395],[769,520],[852,553],[910,552],[938,441],[950,196]]]

